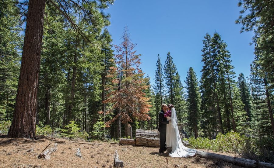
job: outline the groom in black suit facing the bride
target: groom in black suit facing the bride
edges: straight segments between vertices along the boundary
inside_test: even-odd
[[[163,153],[167,150],[166,148],[166,133],[167,133],[167,124],[170,121],[167,121],[167,118],[164,117],[165,112],[167,111],[167,104],[162,104],[162,110],[159,113],[159,128],[160,132],[160,149],[159,152]]]

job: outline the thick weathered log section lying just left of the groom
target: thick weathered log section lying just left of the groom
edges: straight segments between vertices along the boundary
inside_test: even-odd
[[[136,130],[135,145],[160,147],[159,132],[155,130]]]

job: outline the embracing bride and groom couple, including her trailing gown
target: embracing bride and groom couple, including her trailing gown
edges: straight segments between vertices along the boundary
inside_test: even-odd
[[[168,106],[162,104],[162,110],[159,113],[160,149],[163,153],[167,147],[172,148],[169,153],[171,157],[191,157],[196,153],[195,149],[187,148],[183,145],[177,126],[176,110],[172,104]],[[167,146],[167,147],[166,147]]]

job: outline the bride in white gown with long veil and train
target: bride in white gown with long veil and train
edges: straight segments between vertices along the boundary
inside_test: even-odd
[[[168,110],[171,110],[170,124],[167,124],[166,145],[171,147],[172,151],[169,153],[171,157],[191,157],[196,154],[195,149],[187,148],[183,145],[177,126],[176,110],[172,104],[168,105]]]

